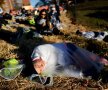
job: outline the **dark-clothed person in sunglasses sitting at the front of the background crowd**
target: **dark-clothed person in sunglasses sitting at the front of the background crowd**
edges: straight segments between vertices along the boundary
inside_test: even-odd
[[[42,9],[39,16],[35,18],[35,26],[37,33],[44,33],[45,30],[52,30],[52,24],[48,19],[48,13],[46,9]]]

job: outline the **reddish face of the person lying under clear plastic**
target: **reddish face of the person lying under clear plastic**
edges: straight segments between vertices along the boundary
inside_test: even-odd
[[[43,61],[41,58],[34,61],[34,68],[37,71],[38,74],[41,74],[44,67],[45,67],[45,61]]]

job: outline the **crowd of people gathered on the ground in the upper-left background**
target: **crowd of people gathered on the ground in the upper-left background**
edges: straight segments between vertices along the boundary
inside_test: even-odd
[[[48,8],[39,10],[26,10],[21,8],[17,11],[10,10],[9,13],[0,14],[0,28],[3,24],[8,24],[7,19],[15,20],[15,23],[34,26],[34,37],[42,37],[41,34],[59,34],[62,29],[60,21],[60,10],[57,5],[51,4]]]

